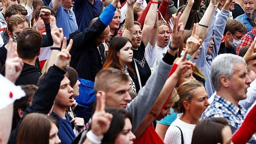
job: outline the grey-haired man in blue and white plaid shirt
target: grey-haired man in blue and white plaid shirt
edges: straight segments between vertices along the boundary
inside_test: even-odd
[[[234,132],[239,128],[246,109],[238,103],[246,99],[251,83],[245,60],[234,54],[221,54],[211,65],[211,81],[216,90],[214,102],[202,114],[205,118],[225,118]]]

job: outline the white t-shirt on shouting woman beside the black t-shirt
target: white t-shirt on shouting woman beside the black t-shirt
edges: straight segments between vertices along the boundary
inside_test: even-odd
[[[152,49],[152,46],[150,43],[147,44],[145,47],[145,58],[149,65],[149,67],[153,67],[154,61],[157,57],[157,64],[158,62],[163,58],[163,56],[168,51],[169,47],[168,45],[166,47],[158,47],[157,43],[155,44],[154,48]]]

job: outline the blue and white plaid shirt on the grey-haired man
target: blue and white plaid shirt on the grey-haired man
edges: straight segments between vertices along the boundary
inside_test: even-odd
[[[206,118],[225,118],[228,124],[238,129],[242,124],[246,114],[246,109],[232,104],[230,101],[215,95],[214,101],[202,114],[202,119]]]

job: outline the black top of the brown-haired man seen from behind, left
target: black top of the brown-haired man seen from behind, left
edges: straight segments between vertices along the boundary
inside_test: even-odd
[[[5,65],[3,66],[2,74],[5,75]],[[42,75],[37,66],[24,63],[19,78],[16,80],[15,85],[37,85],[39,77]]]

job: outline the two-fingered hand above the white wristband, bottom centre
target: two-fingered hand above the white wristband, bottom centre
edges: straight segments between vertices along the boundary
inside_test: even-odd
[[[97,136],[101,136],[109,130],[113,115],[110,113],[106,113],[105,111],[106,94],[102,92],[102,95],[97,93],[96,96],[97,96],[97,103],[96,103],[95,112],[92,117],[91,130],[93,134]]]

